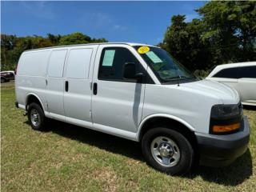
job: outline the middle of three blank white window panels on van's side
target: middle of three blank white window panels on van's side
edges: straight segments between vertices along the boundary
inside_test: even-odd
[[[48,75],[54,78],[61,78],[67,50],[53,50],[50,54]]]

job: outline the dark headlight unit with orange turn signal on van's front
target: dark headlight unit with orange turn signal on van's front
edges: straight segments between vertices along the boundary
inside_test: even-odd
[[[210,134],[230,134],[240,128],[242,104],[215,105],[210,113]]]

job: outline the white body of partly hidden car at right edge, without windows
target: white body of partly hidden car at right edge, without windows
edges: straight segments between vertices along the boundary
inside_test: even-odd
[[[216,66],[206,79],[221,82],[238,91],[242,104],[256,106],[256,78],[218,78],[214,77],[219,71],[244,66],[256,66],[256,62],[238,62]]]

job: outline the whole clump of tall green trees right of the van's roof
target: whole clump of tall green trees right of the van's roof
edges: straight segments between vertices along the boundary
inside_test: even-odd
[[[207,2],[201,18],[175,15],[160,44],[190,70],[256,60],[256,2]]]

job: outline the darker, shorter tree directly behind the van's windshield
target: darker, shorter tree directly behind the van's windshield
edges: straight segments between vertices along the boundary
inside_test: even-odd
[[[170,52],[190,70],[204,69],[206,67],[206,50],[200,41],[202,34],[202,22],[194,19],[185,22],[185,15],[177,15],[171,18],[172,25],[166,30],[162,47]],[[203,58],[203,59],[202,59]]]

